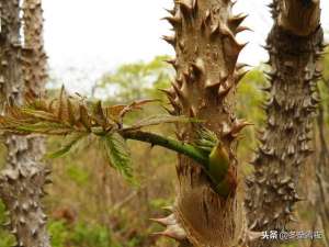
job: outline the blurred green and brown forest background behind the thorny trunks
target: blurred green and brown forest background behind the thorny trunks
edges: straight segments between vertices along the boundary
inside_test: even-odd
[[[115,70],[104,74],[88,97],[101,98],[115,104],[139,99],[160,99],[166,105],[168,102],[159,89],[168,88],[174,76],[173,69],[164,63],[168,58],[159,56],[149,63],[121,65]],[[313,167],[315,162],[324,160],[328,165],[329,160],[329,154],[326,151],[329,142],[329,55],[324,59],[324,79],[319,86],[322,103],[320,114],[314,123],[317,130],[315,153],[308,159],[308,169],[299,183],[303,184],[300,190],[307,200],[298,207],[298,228],[305,231],[314,229],[317,224],[317,216],[314,214],[318,193],[315,182],[317,173]],[[260,90],[266,87],[263,70],[266,70],[265,65],[252,68],[237,92],[239,101],[236,108],[239,117],[254,123],[254,126],[243,132],[239,145],[239,161],[245,173],[251,171],[248,160],[252,159],[253,148],[257,146],[256,137],[264,121],[261,104],[265,96]],[[48,82],[48,93],[57,93],[61,83],[60,79],[52,78]],[[131,114],[129,117],[140,117],[140,114],[149,115],[159,111],[164,110],[160,104],[154,104],[144,112]],[[173,127],[167,125],[157,126],[156,131],[164,135],[174,133]],[[175,154],[137,142],[129,141],[128,144],[133,151],[135,170],[138,172],[136,177],[139,186],[134,188],[109,167],[99,147],[88,142],[64,158],[47,160],[54,170],[54,184],[47,188],[49,197],[46,198],[45,209],[49,215],[48,229],[54,247],[174,246],[174,242],[150,236],[150,233],[158,232],[160,226],[151,223],[149,218],[163,215],[161,209],[173,201],[177,182]],[[59,139],[48,139],[49,150],[59,146]],[[4,147],[1,147],[2,157],[4,153]],[[4,162],[5,159],[0,160]],[[1,223],[4,223],[7,217],[4,206],[0,205]],[[13,237],[1,229],[0,246],[7,247],[13,243]],[[290,246],[303,246],[303,243]]]

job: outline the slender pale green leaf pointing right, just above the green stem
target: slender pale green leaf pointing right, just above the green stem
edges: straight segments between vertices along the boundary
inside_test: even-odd
[[[158,115],[152,115],[146,119],[143,119],[138,121],[137,123],[133,124],[132,126],[125,128],[125,131],[131,131],[131,130],[138,130],[141,127],[147,127],[151,125],[158,125],[162,123],[201,123],[201,120],[193,119],[193,117],[188,117],[188,116],[173,116],[173,115],[168,115],[168,114],[158,114]]]

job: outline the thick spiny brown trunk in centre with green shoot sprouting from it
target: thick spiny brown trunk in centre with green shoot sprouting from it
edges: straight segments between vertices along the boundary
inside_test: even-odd
[[[237,58],[245,45],[235,35],[246,15],[232,15],[230,0],[174,1],[167,20],[174,36],[164,36],[177,53],[169,63],[177,70],[175,81],[167,91],[173,106],[171,114],[184,114],[205,120],[224,142],[230,156],[229,198],[220,198],[200,166],[180,156],[177,173],[179,191],[173,215],[177,223],[168,224],[167,235],[181,240],[182,246],[231,247],[245,238],[245,215],[238,203],[236,180],[236,137],[246,125],[234,114],[234,93],[243,76]],[[178,126],[178,137],[191,142],[197,126]],[[172,216],[172,215],[171,215]]]

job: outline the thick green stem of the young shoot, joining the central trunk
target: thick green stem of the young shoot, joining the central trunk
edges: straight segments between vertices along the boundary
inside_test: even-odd
[[[203,165],[204,168],[207,167],[208,156],[202,150],[197,149],[193,145],[179,142],[177,139],[164,137],[161,135],[141,132],[141,131],[132,131],[132,132],[122,132],[121,133],[126,139],[136,139],[144,143],[149,143],[151,145],[158,145],[166,147],[179,154],[185,155],[198,164]]]

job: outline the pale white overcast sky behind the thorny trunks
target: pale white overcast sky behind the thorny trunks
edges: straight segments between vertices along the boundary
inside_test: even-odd
[[[121,64],[174,55],[161,40],[170,25],[161,20],[173,0],[43,0],[45,47],[53,76],[79,92],[88,92],[104,72]],[[248,13],[245,21],[253,32],[243,32],[249,42],[240,61],[258,65],[266,59],[261,47],[272,21],[271,0],[238,0],[234,12]],[[322,25],[329,31],[329,1],[322,0]]]

